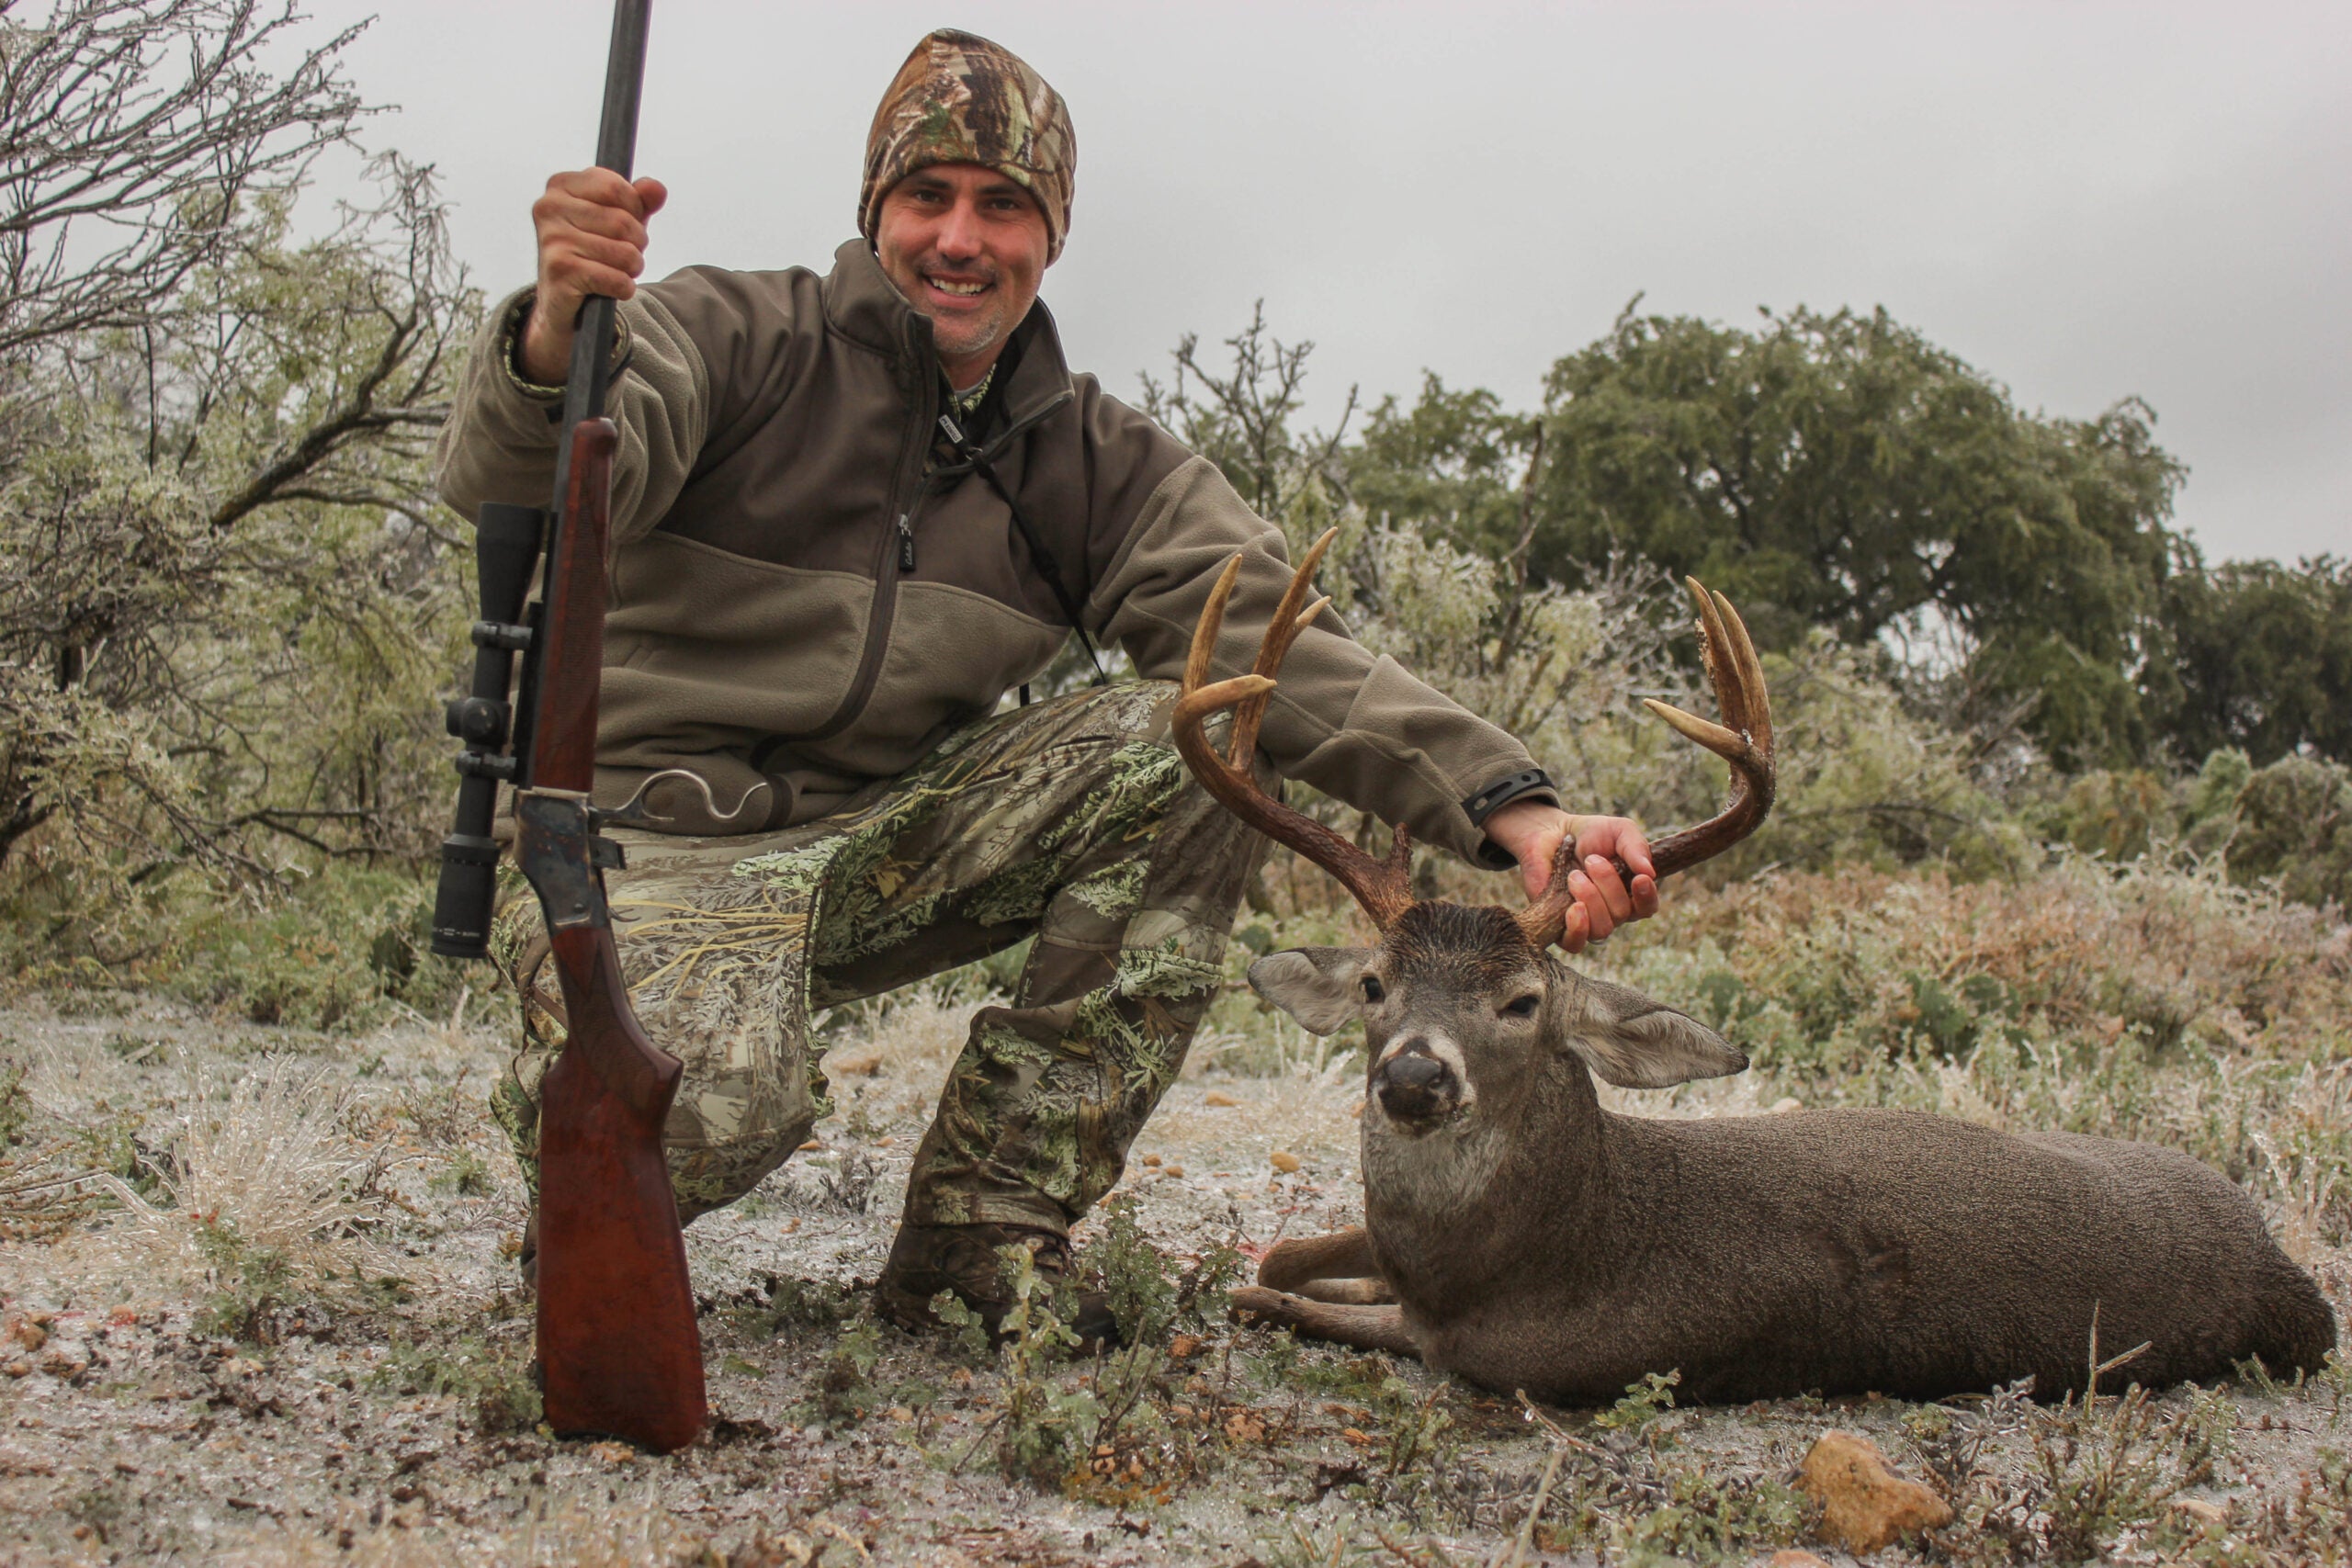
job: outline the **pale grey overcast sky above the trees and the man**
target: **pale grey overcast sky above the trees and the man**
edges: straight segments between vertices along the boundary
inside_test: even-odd
[[[597,0],[313,0],[440,167],[459,252],[532,270],[595,150]],[[1254,299],[1315,414],[1421,371],[1531,407],[1644,310],[1886,306],[2093,416],[2140,395],[2209,555],[2352,548],[2352,5],[1011,5],[661,0],[637,169],[652,273],[823,268],[875,99],[931,26],[1070,101],[1044,299],[1120,395]]]

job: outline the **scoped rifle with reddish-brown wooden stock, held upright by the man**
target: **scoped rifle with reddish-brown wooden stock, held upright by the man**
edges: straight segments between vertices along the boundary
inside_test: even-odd
[[[616,0],[597,165],[623,179],[637,143],[649,0]],[[456,830],[442,842],[433,952],[489,954],[499,785],[515,785],[515,846],[546,914],[564,994],[564,1048],[539,1100],[539,1371],[562,1436],[623,1436],[668,1453],[703,1427],[703,1347],[661,1124],[682,1067],[637,1027],[604,905],[621,846],[590,806],[604,654],[612,456],[604,418],[614,301],[590,299],[572,341],[555,512],[482,508],[475,559],[482,621],[473,689],[449,703],[466,741]],[[532,576],[541,602],[524,609]],[[522,682],[508,679],[522,654]]]

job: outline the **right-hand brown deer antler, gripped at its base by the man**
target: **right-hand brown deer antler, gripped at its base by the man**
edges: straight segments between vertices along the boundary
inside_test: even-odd
[[[1731,799],[1705,823],[1670,832],[1649,846],[1658,877],[1689,870],[1745,839],[1771,811],[1773,797],[1771,696],[1764,691],[1764,665],[1748,639],[1748,625],[1740,621],[1740,611],[1731,609],[1731,599],[1700,588],[1698,578],[1684,578],[1684,583],[1691,588],[1691,599],[1698,602],[1698,654],[1708,665],[1708,684],[1715,686],[1724,722],[1710,724],[1656,698],[1642,698],[1642,705],[1672,724],[1682,738],[1696,741],[1731,764]],[[1625,863],[1616,865],[1618,875],[1630,882]],[[1573,903],[1569,872],[1573,870],[1576,842],[1569,839],[1552,860],[1552,882],[1543,898],[1519,912],[1519,929],[1536,947],[1559,940],[1559,931],[1566,926]]]

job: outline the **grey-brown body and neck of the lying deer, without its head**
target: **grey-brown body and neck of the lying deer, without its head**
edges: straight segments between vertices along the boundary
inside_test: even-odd
[[[1364,1110],[1369,1260],[1402,1338],[1470,1382],[2056,1394],[2084,1385],[2093,1314],[2103,1356],[2147,1342],[2122,1375],[2152,1387],[2317,1368],[2336,1340],[2253,1204],[2173,1150],[1893,1110],[1653,1121],[1602,1110],[1583,1060],[1550,1067],[1458,1131]]]

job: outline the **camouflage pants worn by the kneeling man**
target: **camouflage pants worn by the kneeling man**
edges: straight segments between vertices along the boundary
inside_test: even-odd
[[[757,837],[614,832],[637,1018],[684,1060],[663,1143],[694,1218],[830,1112],[811,1009],[1035,936],[1011,1006],[971,1020],[908,1182],[913,1225],[1068,1229],[1124,1168],[1223,978],[1265,842],[1192,783],[1176,689],[1136,682],[981,719],[851,809]],[[494,933],[524,1044],[492,1110],[536,1190],[539,1079],[562,1046],[539,900]]]

